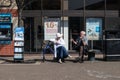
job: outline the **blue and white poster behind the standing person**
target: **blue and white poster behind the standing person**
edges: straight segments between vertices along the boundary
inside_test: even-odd
[[[88,40],[102,39],[102,19],[101,18],[86,19],[86,36]]]

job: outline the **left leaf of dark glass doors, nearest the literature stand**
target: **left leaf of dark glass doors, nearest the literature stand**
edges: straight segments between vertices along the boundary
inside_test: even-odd
[[[33,45],[34,45],[34,18],[28,17],[24,20],[24,28],[25,28],[25,35],[24,35],[24,51],[25,52],[32,52]]]

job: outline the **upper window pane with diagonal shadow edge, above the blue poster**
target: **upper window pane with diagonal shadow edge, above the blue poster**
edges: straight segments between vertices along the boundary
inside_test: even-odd
[[[85,9],[86,10],[104,10],[104,1],[105,0],[85,0]]]

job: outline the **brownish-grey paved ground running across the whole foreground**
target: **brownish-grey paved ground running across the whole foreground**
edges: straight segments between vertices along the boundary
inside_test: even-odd
[[[0,57],[0,80],[120,80],[120,61],[104,61],[96,55],[95,61],[75,62],[71,54],[65,63],[54,62],[51,54],[42,62],[40,54],[25,54],[24,62],[13,57]]]

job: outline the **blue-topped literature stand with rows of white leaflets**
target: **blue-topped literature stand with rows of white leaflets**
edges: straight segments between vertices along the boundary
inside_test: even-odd
[[[17,27],[14,30],[14,61],[24,60],[24,27]]]

